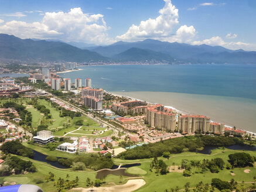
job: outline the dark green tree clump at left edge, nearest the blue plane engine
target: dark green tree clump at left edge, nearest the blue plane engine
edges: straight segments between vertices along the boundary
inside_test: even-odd
[[[30,161],[19,159],[19,157],[12,156],[5,159],[0,169],[0,176],[12,174],[21,174],[26,172],[36,172],[36,167]]]

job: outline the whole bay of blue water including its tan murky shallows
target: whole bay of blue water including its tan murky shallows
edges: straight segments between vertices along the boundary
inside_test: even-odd
[[[91,78],[93,87],[159,102],[256,132],[256,65],[83,66],[60,77]]]

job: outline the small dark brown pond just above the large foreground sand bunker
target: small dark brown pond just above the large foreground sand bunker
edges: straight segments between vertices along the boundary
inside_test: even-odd
[[[136,177],[136,175],[125,173],[125,170],[129,167],[140,166],[140,165],[141,165],[141,163],[124,164],[123,166],[121,166],[120,169],[117,169],[118,166],[116,164],[114,164],[114,166],[111,167],[112,170],[104,169],[104,170],[99,171],[97,173],[96,179],[101,179],[103,177],[107,177],[108,174],[114,174],[115,176],[120,176],[120,174],[121,174],[122,176]]]

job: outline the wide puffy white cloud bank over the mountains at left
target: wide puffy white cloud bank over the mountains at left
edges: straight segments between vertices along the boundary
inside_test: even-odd
[[[107,36],[108,29],[103,15],[89,15],[83,13],[81,8],[73,8],[69,12],[46,12],[41,22],[6,22],[0,26],[0,33],[21,38],[111,43],[112,39]]]

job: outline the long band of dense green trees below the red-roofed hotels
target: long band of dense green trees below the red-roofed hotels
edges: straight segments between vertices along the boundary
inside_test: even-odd
[[[243,144],[243,140],[221,136],[185,136],[183,138],[168,139],[158,143],[138,146],[120,153],[117,157],[121,159],[145,159],[162,156],[163,152],[181,153],[200,150],[206,145],[226,146],[234,144]]]

